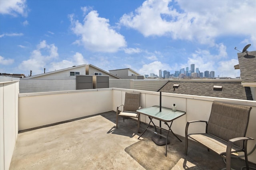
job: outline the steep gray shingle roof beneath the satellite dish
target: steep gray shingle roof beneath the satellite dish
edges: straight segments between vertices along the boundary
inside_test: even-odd
[[[256,82],[256,51],[237,53],[242,82]]]

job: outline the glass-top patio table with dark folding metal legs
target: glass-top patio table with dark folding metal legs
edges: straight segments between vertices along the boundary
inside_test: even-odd
[[[151,106],[151,107],[146,107],[143,109],[138,109],[137,112],[139,114],[143,114],[148,116],[148,118],[150,119],[150,122],[148,123],[148,127],[150,125],[150,123],[152,122],[154,127],[155,127],[155,131],[153,131],[152,129],[149,129],[148,127],[142,132],[142,134],[138,137],[138,139],[140,139],[140,137],[146,132],[146,130],[150,130],[152,132],[154,132],[156,134],[156,136],[152,137],[152,141],[154,141],[154,143],[156,143],[156,145],[166,145],[166,152],[165,152],[165,156],[167,156],[167,144],[170,143],[170,141],[168,141],[168,135],[169,132],[172,132],[171,126],[172,126],[172,121],[174,121],[175,119],[181,117],[182,115],[185,115],[186,112],[184,111],[172,111],[172,109],[167,108],[167,107],[160,107],[160,106]],[[157,119],[160,121],[160,133],[156,132],[156,125],[154,124],[152,119]],[[166,124],[169,128],[168,133],[166,136],[162,135],[162,128],[161,128],[161,121],[164,122],[164,124]],[[168,125],[168,122],[171,122],[170,125]],[[173,135],[180,140],[174,133]],[[159,137],[160,136],[160,137]],[[162,138],[164,137],[164,139]],[[182,142],[180,140],[180,142]]]

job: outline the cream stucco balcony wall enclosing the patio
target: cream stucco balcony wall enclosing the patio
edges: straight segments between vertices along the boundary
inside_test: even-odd
[[[38,93],[24,93],[18,94],[18,86],[10,85],[10,89],[13,92],[9,92],[10,89],[0,87],[1,99],[2,96],[6,97],[8,92],[10,96],[16,96],[10,99],[11,105],[7,105],[0,102],[1,108],[1,141],[5,141],[10,144],[10,149],[5,149],[5,156],[11,156],[16,136],[18,131],[30,129],[34,127],[40,127],[44,125],[49,125],[52,123],[58,123],[61,121],[67,121],[70,119],[76,119],[79,117],[84,117],[88,115],[94,115],[98,113],[116,111],[116,107],[124,104],[125,92],[140,92],[141,100],[140,105],[142,107],[150,107],[154,105],[159,105],[160,103],[160,93],[152,91],[143,90],[130,90],[121,88],[102,88],[102,89],[90,89],[90,90],[70,90],[70,91],[58,91],[58,92],[38,92]],[[9,97],[6,97],[8,99]],[[221,101],[232,104],[239,104],[252,107],[250,113],[250,121],[248,125],[248,130],[246,136],[256,139],[256,102],[248,100],[235,100],[227,98],[212,98],[204,96],[192,96],[192,95],[182,95],[182,94],[171,94],[162,93],[162,106],[171,107],[172,104],[176,104],[177,109],[181,111],[186,111],[186,115],[176,119],[172,124],[172,130],[174,133],[184,136],[186,122],[190,120],[208,120],[210,116],[211,105],[213,101]],[[2,109],[4,105],[4,109]],[[14,109],[13,109],[14,108]],[[17,116],[12,116],[10,118],[5,117],[2,119],[3,115],[8,113],[8,110],[17,114]],[[18,123],[17,120],[18,119]],[[8,121],[14,124],[14,130],[10,133],[12,138],[3,138],[3,124],[6,125]],[[141,121],[149,123],[148,117],[141,115]],[[3,123],[2,123],[3,122]],[[100,122],[99,122],[100,123]],[[156,125],[159,125],[159,121],[155,121]],[[164,123],[162,127],[166,128]],[[11,128],[13,129],[13,128]],[[194,131],[204,131],[204,124],[202,125],[192,125],[190,127],[190,133]],[[13,141],[14,140],[14,141]],[[248,152],[252,150],[256,140],[248,141]],[[2,150],[1,143],[1,150]],[[7,153],[8,152],[8,153]],[[1,152],[1,161],[4,164],[10,164],[10,160],[4,160]],[[250,162],[256,163],[256,151],[248,156]],[[2,162],[0,162],[2,167]],[[1,168],[2,169],[2,168]],[[6,169],[6,168],[5,168]],[[8,169],[8,168],[7,168]]]

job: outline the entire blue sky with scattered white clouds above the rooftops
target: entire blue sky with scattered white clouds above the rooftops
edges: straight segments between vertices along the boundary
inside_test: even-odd
[[[255,0],[0,0],[0,72],[93,64],[234,78],[234,48],[256,50]]]

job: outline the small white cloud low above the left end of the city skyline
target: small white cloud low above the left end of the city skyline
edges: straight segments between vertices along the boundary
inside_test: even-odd
[[[142,68],[140,70],[138,70],[138,72],[142,75],[150,74],[150,73],[154,73],[154,74],[158,75],[159,70],[161,70],[161,69],[172,70],[172,68],[168,64],[161,63],[160,61],[154,61],[153,63],[144,64],[142,66]]]

